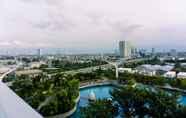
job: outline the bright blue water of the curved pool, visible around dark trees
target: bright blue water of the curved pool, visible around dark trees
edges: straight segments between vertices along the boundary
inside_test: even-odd
[[[96,99],[104,99],[110,98],[111,95],[109,94],[110,91],[113,90],[113,86],[111,85],[102,85],[102,86],[94,86],[94,87],[87,87],[80,90],[80,101],[78,103],[78,108],[75,114],[71,118],[79,118],[79,109],[80,107],[85,107],[88,105],[88,95],[91,92],[94,92],[96,95]],[[181,105],[186,105],[186,95],[182,95],[178,99],[178,103]]]

